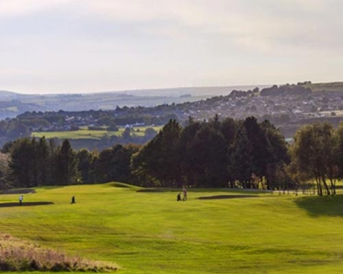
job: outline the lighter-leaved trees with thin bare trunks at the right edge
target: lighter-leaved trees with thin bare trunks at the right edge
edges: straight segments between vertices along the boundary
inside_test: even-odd
[[[343,179],[343,122],[335,129],[329,123],[301,127],[289,148],[289,174],[298,185],[312,183],[318,195],[335,195]]]

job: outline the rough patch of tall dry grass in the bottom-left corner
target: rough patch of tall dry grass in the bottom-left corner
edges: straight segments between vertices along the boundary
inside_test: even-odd
[[[115,264],[83,260],[0,234],[0,271],[113,272]]]

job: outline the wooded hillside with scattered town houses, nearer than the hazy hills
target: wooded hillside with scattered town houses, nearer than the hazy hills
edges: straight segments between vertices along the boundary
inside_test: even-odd
[[[122,127],[164,125],[169,119],[185,123],[189,117],[207,121],[215,114],[233,119],[246,119],[248,116],[255,116],[259,121],[267,119],[289,138],[305,123],[329,121],[338,125],[343,120],[343,94],[340,91],[312,92],[304,88],[303,83],[286,84],[262,90],[233,90],[226,96],[150,108],[118,106],[115,110],[25,112],[17,116],[16,121],[23,123],[30,132],[48,132],[110,123]]]

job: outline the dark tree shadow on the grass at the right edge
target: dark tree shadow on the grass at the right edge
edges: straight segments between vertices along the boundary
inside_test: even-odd
[[[301,197],[294,201],[299,208],[306,210],[311,216],[342,216],[343,195]]]

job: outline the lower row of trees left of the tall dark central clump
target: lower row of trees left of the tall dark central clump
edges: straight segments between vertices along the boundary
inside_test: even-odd
[[[0,157],[0,186],[95,184],[131,182],[130,158],[137,145],[115,145],[100,153],[72,149],[69,140],[56,145],[54,139],[21,138],[7,143]],[[9,155],[9,157],[4,157]]]

